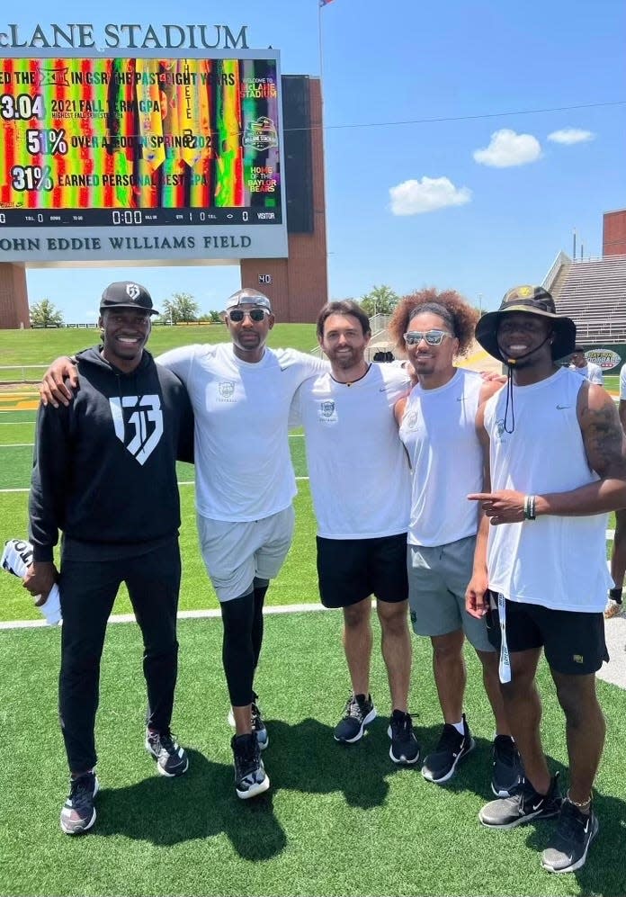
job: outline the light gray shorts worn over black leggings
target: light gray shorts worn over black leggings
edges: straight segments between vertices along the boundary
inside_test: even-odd
[[[202,558],[220,602],[246,595],[255,577],[278,575],[291,546],[294,522],[291,505],[262,520],[239,523],[198,515]]]

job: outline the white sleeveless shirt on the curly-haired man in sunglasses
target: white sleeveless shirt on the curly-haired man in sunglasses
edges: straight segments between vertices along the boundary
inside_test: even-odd
[[[417,384],[400,425],[413,468],[408,542],[434,547],[476,535],[478,508],[470,492],[482,491],[482,450],[476,413],[483,379],[456,370],[434,390]]]

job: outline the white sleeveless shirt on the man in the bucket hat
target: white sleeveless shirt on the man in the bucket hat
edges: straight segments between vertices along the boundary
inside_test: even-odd
[[[577,419],[582,380],[560,368],[546,380],[514,386],[513,433],[504,428],[506,390],[485,406],[491,488],[525,495],[567,492],[599,480],[589,469]],[[604,610],[612,579],[606,569],[606,514],[539,516],[489,527],[489,588],[554,610]]]

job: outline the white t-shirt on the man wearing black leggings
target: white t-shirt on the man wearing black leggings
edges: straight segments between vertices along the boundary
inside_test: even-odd
[[[296,494],[291,399],[327,363],[295,349],[268,348],[260,362],[244,362],[231,343],[183,346],[156,362],[180,377],[192,399],[198,513],[235,523],[289,507]]]

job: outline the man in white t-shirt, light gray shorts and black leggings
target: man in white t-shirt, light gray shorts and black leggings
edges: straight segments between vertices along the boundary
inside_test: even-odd
[[[156,359],[184,383],[195,414],[195,490],[201,552],[219,598],[222,660],[232,705],[237,796],[270,786],[260,750],[269,739],[254,692],[263,641],[263,605],[291,545],[296,482],[289,452],[291,399],[326,363],[295,349],[265,345],[272,303],[244,288],[226,302],[230,343],[188,345]],[[72,368],[46,372],[42,398],[65,403]],[[61,380],[59,382],[59,379]]]

